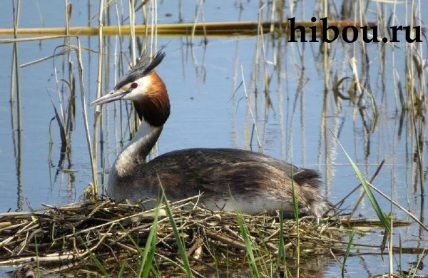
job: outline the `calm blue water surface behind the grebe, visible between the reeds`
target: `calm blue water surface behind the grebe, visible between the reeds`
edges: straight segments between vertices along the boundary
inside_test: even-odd
[[[90,17],[86,3],[72,3],[71,25],[86,26]],[[206,1],[203,16],[206,22],[257,21],[258,3],[259,1],[244,1],[243,9],[240,9],[239,3]],[[0,16],[2,28],[12,26],[10,5],[4,4],[4,11],[8,12]],[[37,5],[40,5],[40,9]],[[62,26],[63,3],[50,1],[49,9],[44,9],[46,5],[43,1],[23,4],[19,26]],[[180,11],[178,4],[159,3],[158,21],[173,23],[178,22],[181,17],[185,22],[192,22],[195,5],[185,2]],[[298,14],[300,19],[308,20],[313,15],[314,7],[314,4],[308,1],[305,8],[298,5],[295,14]],[[375,10],[374,6],[370,7]],[[393,7],[386,5],[386,8]],[[427,5],[422,8],[427,8]],[[97,10],[98,6],[91,6],[91,16]],[[264,18],[268,18],[267,8],[263,9],[262,13]],[[401,13],[404,12],[400,10],[398,16],[404,16]],[[367,16],[374,17],[374,14],[369,13]],[[91,26],[96,26],[96,19],[97,16],[91,21]],[[138,14],[138,19],[141,19],[141,14]],[[404,17],[399,17],[399,20],[404,22]],[[262,151],[299,166],[320,170],[324,177],[321,190],[335,203],[358,184],[343,150],[332,135],[335,134],[367,179],[373,175],[377,165],[383,159],[386,160],[374,185],[415,215],[420,215],[420,183],[417,163],[414,162],[412,154],[416,148],[414,130],[407,115],[399,133],[401,111],[397,109],[397,80],[393,78],[396,72],[402,84],[404,83],[404,50],[386,46],[383,63],[379,56],[379,45],[365,45],[370,60],[366,74],[370,75],[370,88],[379,107],[376,124],[367,132],[366,127],[374,125],[369,98],[365,98],[367,109],[364,111],[367,115],[363,118],[360,111],[349,101],[341,101],[339,106],[335,104],[331,79],[330,90],[325,94],[325,76],[352,76],[349,66],[352,55],[357,58],[357,69],[362,74],[361,61],[364,57],[360,56],[359,43],[332,43],[332,53],[326,62],[323,60],[319,43],[287,43],[285,38],[263,38],[266,66],[263,56],[260,53],[256,56],[257,46],[261,49],[261,44],[258,44],[260,41],[258,42],[256,37],[210,37],[206,46],[200,37],[195,38],[193,45],[187,43],[188,38],[158,38],[158,46],[163,46],[167,53],[158,67],[158,73],[168,87],[172,110],[155,155],[193,147]],[[125,51],[128,51],[127,41],[125,38]],[[76,43],[76,40],[72,39],[72,43]],[[81,43],[84,48],[98,51],[96,37],[81,37]],[[51,56],[56,47],[62,44],[62,38],[19,43],[19,63]],[[117,38],[106,38],[106,45],[111,71],[105,85],[105,91],[108,91],[108,88],[114,86],[113,49],[117,46]],[[427,48],[426,42],[424,48]],[[70,163],[65,162],[58,166],[61,139],[56,122],[53,121],[51,128],[49,127],[54,117],[50,97],[56,107],[59,107],[54,73],[57,71],[58,79],[63,78],[62,59],[49,59],[20,69],[22,131],[19,146],[19,133],[13,130],[11,125],[11,115],[16,115],[16,102],[13,103],[14,113],[11,113],[9,103],[11,56],[12,45],[0,44],[0,88],[3,88],[0,95],[0,210],[28,210],[27,202],[34,208],[41,207],[41,203],[56,205],[76,202],[83,187],[92,180],[79,92],[77,91],[74,130],[71,133],[71,160]],[[83,51],[86,103],[95,98],[97,58],[97,53]],[[75,56],[71,55],[71,61],[76,68]],[[330,66],[327,71],[330,72],[326,74],[327,64]],[[379,74],[381,67],[384,67],[384,75]],[[302,71],[302,68],[305,70]],[[266,104],[264,94],[265,71],[271,78],[268,90],[271,106]],[[243,81],[248,101],[243,86],[240,86]],[[60,82],[60,87],[62,84]],[[342,93],[346,95],[349,81],[345,84],[347,85]],[[104,147],[108,168],[121,149],[121,145],[117,143],[118,138],[124,136],[127,139],[129,135],[121,135],[118,117],[114,117],[114,105],[105,106],[103,117],[107,124]],[[88,107],[88,116],[92,132],[93,108]],[[253,123],[257,125],[260,146],[253,134]],[[16,129],[16,126],[14,128]],[[49,130],[53,140],[51,157]],[[98,170],[102,171],[101,166],[98,166]],[[354,194],[345,202],[348,210],[355,205],[356,200],[357,194]],[[382,197],[378,200],[382,209],[388,212],[389,202]],[[422,210],[427,208],[425,202]],[[395,207],[392,212],[399,219],[407,219],[406,215]],[[363,201],[358,213],[364,217],[375,217],[368,200]],[[396,244],[398,234],[402,236],[406,246],[414,246],[415,241],[420,239],[416,225],[395,230]],[[426,235],[426,232],[422,232],[421,237]],[[379,244],[379,234],[363,237],[361,241]],[[416,260],[416,255],[404,256],[405,263]],[[372,274],[387,271],[387,259],[382,261],[379,256],[350,257],[347,264],[347,277],[355,277],[355,273],[361,274],[361,277],[370,277]],[[324,276],[336,277],[337,273],[340,273],[340,268],[332,262]]]

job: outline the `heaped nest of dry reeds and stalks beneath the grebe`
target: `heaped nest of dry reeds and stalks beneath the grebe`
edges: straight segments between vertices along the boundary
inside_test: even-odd
[[[297,223],[277,216],[212,212],[190,200],[153,210],[110,200],[44,207],[0,213],[0,265],[21,266],[18,274],[33,269],[44,274],[71,269],[114,273],[138,269],[143,257],[151,261],[145,262],[151,271],[184,274],[180,240],[198,276],[236,266],[248,269],[249,253],[253,261],[270,260],[271,265],[279,265],[278,252],[284,260],[296,252],[303,258],[326,254],[342,235],[334,221],[304,217]]]

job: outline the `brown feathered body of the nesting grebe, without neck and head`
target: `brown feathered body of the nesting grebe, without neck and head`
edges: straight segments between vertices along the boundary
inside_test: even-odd
[[[315,170],[297,168],[262,153],[194,148],[160,155],[129,175],[118,177],[108,191],[116,195],[115,200],[133,196],[131,202],[136,202],[156,199],[162,185],[171,201],[202,193],[200,202],[211,210],[238,209],[255,214],[292,211],[294,187],[300,212],[321,216],[329,204],[317,192],[319,178]]]

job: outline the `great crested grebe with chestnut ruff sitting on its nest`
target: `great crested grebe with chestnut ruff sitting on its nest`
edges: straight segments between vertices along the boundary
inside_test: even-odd
[[[118,155],[108,177],[107,194],[115,202],[157,199],[162,185],[170,201],[200,195],[199,202],[210,210],[246,214],[293,211],[294,185],[301,215],[322,217],[332,205],[318,192],[316,170],[297,168],[262,153],[227,148],[175,150],[146,163],[146,157],[161,135],[170,115],[165,84],[155,68],[165,57],[153,59],[144,52],[131,70],[106,96],[91,105],[130,100],[141,125]],[[144,205],[144,207],[153,207]]]

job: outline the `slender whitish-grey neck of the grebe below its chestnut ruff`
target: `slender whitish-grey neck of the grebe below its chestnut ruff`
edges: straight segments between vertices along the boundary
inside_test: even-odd
[[[145,120],[141,121],[136,135],[126,144],[113,165],[120,177],[132,174],[138,165],[146,163],[146,157],[161,135],[162,128],[163,125],[153,126]]]

